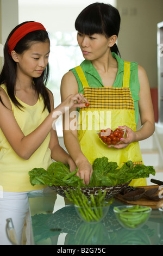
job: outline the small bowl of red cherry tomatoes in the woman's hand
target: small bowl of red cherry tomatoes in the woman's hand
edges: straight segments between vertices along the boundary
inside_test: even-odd
[[[100,141],[109,146],[109,145],[118,145],[121,142],[121,138],[126,138],[126,130],[125,129],[102,129],[97,131],[98,138]]]

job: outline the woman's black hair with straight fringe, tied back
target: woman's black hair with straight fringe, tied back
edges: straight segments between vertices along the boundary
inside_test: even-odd
[[[75,28],[82,34],[102,34],[109,38],[111,35],[118,36],[120,23],[120,13],[115,7],[97,2],[87,6],[78,15]],[[111,52],[115,52],[121,57],[116,44],[111,47]]]

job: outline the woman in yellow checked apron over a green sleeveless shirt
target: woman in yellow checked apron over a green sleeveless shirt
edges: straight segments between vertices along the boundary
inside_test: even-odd
[[[120,53],[116,40],[120,21],[118,10],[109,4],[94,3],[86,7],[75,23],[78,44],[85,60],[62,78],[62,100],[69,93],[84,92],[90,102],[90,112],[110,112],[109,122],[101,122],[100,129],[106,121],[108,127],[123,126],[127,130],[127,138],[122,139],[123,143],[111,148],[100,144],[96,129],[77,131],[70,127],[64,131],[66,148],[78,166],[78,175],[86,184],[89,183],[91,164],[96,157],[107,156],[109,161],[117,162],[118,166],[128,160],[142,163],[138,141],[154,132],[153,106],[146,72],[137,63],[124,62],[118,56]],[[101,103],[103,97],[105,104]],[[136,131],[139,112],[142,127]],[[81,117],[82,109],[79,113]],[[84,122],[86,124],[86,118],[86,114],[85,120],[82,115],[80,127]],[[96,123],[99,124],[99,120],[95,120]],[[71,146],[68,144],[70,141]],[[145,184],[146,181],[139,180],[131,185]]]

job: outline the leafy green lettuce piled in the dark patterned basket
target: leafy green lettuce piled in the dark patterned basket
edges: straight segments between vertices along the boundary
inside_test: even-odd
[[[132,161],[118,168],[116,162],[109,162],[107,157],[97,158],[93,163],[93,173],[89,185],[84,185],[83,180],[76,176],[77,169],[70,172],[69,166],[62,162],[52,163],[47,170],[34,168],[30,170],[30,183],[34,185],[48,186],[72,186],[72,187],[101,187],[124,184],[131,179],[148,178],[149,174],[155,175],[152,166],[136,164]]]

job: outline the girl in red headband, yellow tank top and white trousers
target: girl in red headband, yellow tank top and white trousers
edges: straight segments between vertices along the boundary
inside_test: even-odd
[[[33,191],[28,172],[55,161],[76,164],[60,147],[55,120],[65,107],[84,107],[83,94],[70,95],[54,109],[48,79],[49,37],[38,22],[23,22],[9,34],[0,75],[0,244],[10,244],[5,234],[12,218],[18,243],[29,211],[27,193]],[[76,103],[78,102],[78,103]],[[42,191],[43,186],[35,186]],[[2,193],[1,193],[2,194]]]

